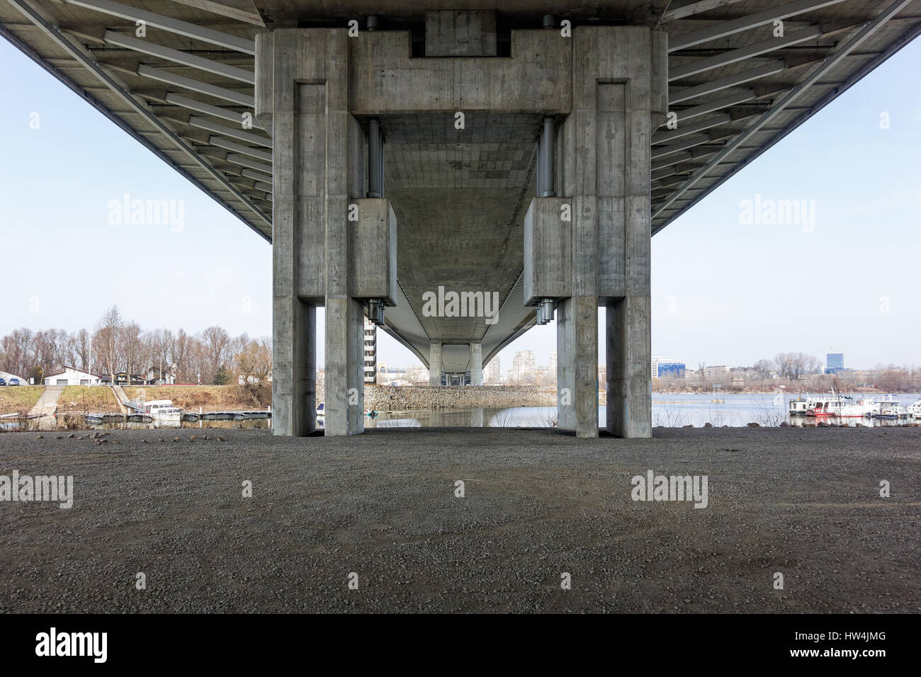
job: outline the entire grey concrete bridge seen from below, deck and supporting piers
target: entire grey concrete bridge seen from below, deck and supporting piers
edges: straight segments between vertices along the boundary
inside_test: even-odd
[[[643,437],[649,237],[915,38],[919,5],[6,0],[0,34],[274,242],[276,433],[315,426],[317,307],[327,434],[350,434],[368,310],[433,384],[476,383],[542,304],[560,425],[597,434],[606,306],[605,425]],[[496,300],[452,312],[465,292]]]

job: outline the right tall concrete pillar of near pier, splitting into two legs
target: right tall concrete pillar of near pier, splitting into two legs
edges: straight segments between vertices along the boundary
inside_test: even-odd
[[[573,112],[557,142],[572,208],[570,298],[559,301],[559,426],[598,435],[598,306],[608,307],[607,428],[649,437],[649,139],[667,110],[661,31],[578,27]],[[553,296],[553,295],[550,295]]]

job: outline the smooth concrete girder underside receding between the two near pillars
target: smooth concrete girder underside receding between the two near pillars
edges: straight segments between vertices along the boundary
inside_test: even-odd
[[[453,116],[441,114],[381,118],[385,195],[398,222],[397,278],[417,326],[401,326],[402,315],[389,314],[417,354],[427,356],[430,340],[477,342],[485,358],[508,337],[495,330],[514,331],[532,320],[533,310],[520,300],[506,302],[524,265],[540,122],[535,115],[470,113],[457,129]],[[489,295],[493,318],[485,317],[485,305],[474,317],[424,312],[424,295],[437,297],[439,286],[445,294],[478,292],[484,304]],[[501,326],[495,300],[505,304]]]

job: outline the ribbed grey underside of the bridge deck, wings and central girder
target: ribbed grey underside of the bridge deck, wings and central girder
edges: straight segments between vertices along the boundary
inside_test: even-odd
[[[253,110],[254,95],[253,52],[240,48],[240,41],[253,41],[265,29],[298,23],[344,28],[349,19],[364,22],[373,13],[381,29],[414,31],[418,48],[424,47],[419,29],[426,9],[443,8],[495,8],[503,40],[512,29],[538,28],[548,12],[574,25],[664,29],[670,44],[669,109],[682,123],[678,130],[660,127],[651,140],[653,234],[921,34],[921,0],[900,3],[894,13],[889,0],[120,3],[127,6],[122,15],[131,15],[134,7],[186,22],[185,32],[151,24],[143,41],[133,44],[134,17],[107,13],[93,0],[82,5],[2,0],[0,35],[270,241],[272,139],[267,131],[243,132],[239,125],[239,117]],[[808,33],[808,38],[777,40],[772,20],[752,20],[791,5],[799,9],[785,15],[785,35]],[[835,59],[884,15],[866,40]],[[823,70],[826,63],[832,65]],[[810,74],[817,70],[822,72],[812,81]],[[806,83],[795,100],[785,101]],[[767,114],[771,117],[765,122]],[[490,120],[485,114],[478,119],[471,113],[465,122],[461,131],[449,117],[383,121],[385,193],[400,221],[402,285],[400,305],[388,309],[387,322],[389,331],[424,363],[429,340],[462,344],[480,339],[485,364],[533,322],[530,309],[521,307],[519,273],[527,208],[522,198],[534,194],[533,141],[539,121],[526,116]],[[72,163],[78,172],[82,158],[61,162]],[[500,320],[486,327],[470,318],[426,318],[419,307],[422,293],[438,285],[498,292]]]

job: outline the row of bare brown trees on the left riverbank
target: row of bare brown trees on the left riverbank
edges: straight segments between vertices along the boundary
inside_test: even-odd
[[[41,383],[64,367],[114,375],[124,371],[146,377],[172,375],[178,383],[237,382],[263,384],[272,374],[272,342],[231,337],[213,326],[197,334],[169,329],[145,331],[122,317],[113,306],[95,329],[67,333],[61,329],[33,332],[22,328],[0,339],[0,371]]]

